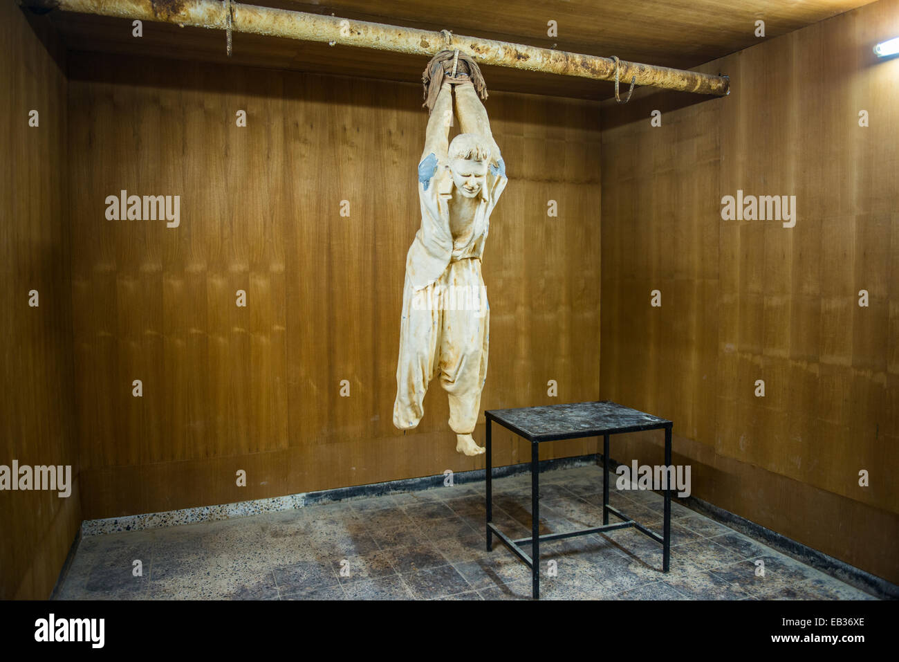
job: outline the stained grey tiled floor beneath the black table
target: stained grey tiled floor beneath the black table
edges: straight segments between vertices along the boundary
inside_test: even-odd
[[[485,550],[484,489],[86,537],[58,599],[530,599],[529,569],[498,541]],[[601,489],[599,467],[542,474],[541,532],[601,523]],[[613,490],[610,500],[661,531],[659,495]],[[494,522],[529,536],[530,475],[494,480]],[[541,561],[542,599],[874,599],[678,504],[667,575],[661,545],[634,529],[545,542]]]

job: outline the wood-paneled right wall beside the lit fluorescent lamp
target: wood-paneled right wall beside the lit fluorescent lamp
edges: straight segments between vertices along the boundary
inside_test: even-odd
[[[897,34],[881,0],[699,67],[728,97],[603,104],[601,288],[601,396],[674,421],[693,495],[894,582]],[[796,226],[723,220],[738,190],[795,195]]]

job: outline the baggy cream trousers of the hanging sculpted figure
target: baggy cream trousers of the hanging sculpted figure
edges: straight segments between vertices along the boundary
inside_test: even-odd
[[[396,364],[397,428],[408,430],[422,420],[424,394],[439,375],[449,398],[449,427],[456,434],[474,432],[487,377],[489,329],[480,259],[450,262],[437,282],[418,291],[405,279]]]

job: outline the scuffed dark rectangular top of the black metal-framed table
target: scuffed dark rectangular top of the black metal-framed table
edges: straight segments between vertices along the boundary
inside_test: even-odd
[[[669,420],[624,407],[610,400],[518,409],[490,409],[485,414],[531,442],[653,430],[672,425]]]

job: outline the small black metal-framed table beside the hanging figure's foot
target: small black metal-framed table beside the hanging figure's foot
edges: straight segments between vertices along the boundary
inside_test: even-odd
[[[672,422],[658,416],[645,414],[642,411],[623,407],[610,400],[600,402],[578,402],[567,405],[549,405],[546,407],[521,407],[518,409],[491,409],[484,412],[487,419],[487,551],[493,548],[493,534],[500,540],[531,570],[532,596],[540,597],[540,541],[553,541],[560,538],[572,538],[578,535],[613,531],[633,526],[638,531],[644,532],[654,541],[662,543],[662,569],[668,572],[671,557],[671,516],[672,495],[671,481],[666,481],[664,488],[664,528],[663,535],[650,531],[643,524],[630,519],[628,515],[619,512],[609,505],[609,437],[611,434],[627,432],[639,432],[641,430],[665,431],[665,464],[670,467],[672,463]],[[493,464],[492,448],[490,440],[490,427],[493,422],[512,430],[513,433],[524,437],[530,442],[530,503],[531,503],[531,537],[510,539],[500,531],[493,523]],[[539,445],[541,442],[555,442],[561,439],[580,439],[583,437],[603,437],[603,483],[602,483],[602,526],[591,529],[582,529],[565,533],[545,533],[539,535],[540,522],[540,467]],[[609,514],[614,514],[621,522],[609,523]],[[532,543],[533,559],[531,559],[521,544]]]

